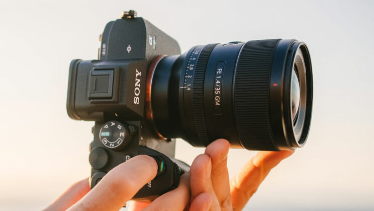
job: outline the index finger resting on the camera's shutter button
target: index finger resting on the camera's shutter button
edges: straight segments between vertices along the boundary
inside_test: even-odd
[[[119,210],[156,174],[157,163],[153,158],[135,156],[109,171],[69,210]]]

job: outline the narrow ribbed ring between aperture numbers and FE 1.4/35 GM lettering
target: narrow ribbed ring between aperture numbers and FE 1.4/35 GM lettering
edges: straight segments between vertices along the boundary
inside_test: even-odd
[[[199,140],[204,143],[205,146],[209,145],[210,140],[204,116],[204,78],[209,56],[216,45],[217,44],[206,45],[199,54],[192,85],[192,111],[194,125]]]

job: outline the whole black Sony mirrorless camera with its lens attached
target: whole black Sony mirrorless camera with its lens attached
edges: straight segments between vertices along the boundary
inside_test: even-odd
[[[90,35],[87,35],[90,36]],[[232,148],[280,151],[304,146],[311,121],[309,51],[295,39],[197,45],[178,43],[135,11],[109,22],[98,59],[70,63],[67,112],[95,121],[90,187],[136,155],[158,164],[133,199],[175,188],[189,166],[175,138],[195,147],[217,138]]]

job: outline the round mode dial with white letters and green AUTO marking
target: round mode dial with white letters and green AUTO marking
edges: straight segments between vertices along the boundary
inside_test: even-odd
[[[103,145],[112,150],[123,150],[131,141],[127,125],[109,121],[100,129],[99,138]]]

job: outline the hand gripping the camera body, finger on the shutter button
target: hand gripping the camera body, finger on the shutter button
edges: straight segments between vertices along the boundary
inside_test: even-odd
[[[88,178],[73,184],[45,210],[119,210],[156,174],[153,158],[135,156],[109,171],[92,190]],[[177,188],[147,203],[144,210],[183,210],[190,199],[189,177],[189,172],[183,174]]]

